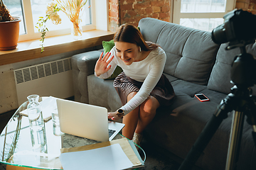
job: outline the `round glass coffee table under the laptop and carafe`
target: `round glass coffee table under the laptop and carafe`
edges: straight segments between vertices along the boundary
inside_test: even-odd
[[[42,98],[39,99],[41,101]],[[41,148],[32,147],[31,131],[28,117],[21,114],[26,110],[28,101],[23,103],[14,113],[0,135],[0,170],[9,169],[10,166],[28,167],[33,169],[62,169],[60,164],[60,149],[80,147],[97,143],[82,137],[60,134],[55,129],[53,121],[45,122],[45,135],[41,137]],[[114,140],[122,138],[117,135]]]

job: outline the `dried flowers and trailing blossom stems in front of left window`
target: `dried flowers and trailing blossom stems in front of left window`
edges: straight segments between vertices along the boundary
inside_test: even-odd
[[[80,18],[80,12],[86,3],[87,0],[53,0],[53,2],[47,6],[46,17],[40,17],[38,20],[39,23],[36,23],[36,28],[38,28],[39,33],[41,33],[41,52],[44,50],[43,42],[46,37],[46,31],[48,31],[46,21],[50,19],[55,25],[61,23],[61,18],[58,15],[58,11],[63,11],[73,23],[74,35],[82,35],[82,30],[79,28],[79,24],[82,21]]]

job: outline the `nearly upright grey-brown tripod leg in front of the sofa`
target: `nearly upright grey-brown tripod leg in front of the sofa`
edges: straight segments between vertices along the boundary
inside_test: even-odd
[[[242,127],[245,120],[245,113],[235,111],[233,115],[233,124],[230,132],[230,142],[228,147],[228,157],[226,162],[226,170],[236,169],[238,162],[240,143],[242,139]]]

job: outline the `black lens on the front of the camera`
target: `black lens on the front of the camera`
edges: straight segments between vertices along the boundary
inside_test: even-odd
[[[222,44],[228,42],[225,34],[224,23],[216,27],[212,31],[212,39],[216,44]]]

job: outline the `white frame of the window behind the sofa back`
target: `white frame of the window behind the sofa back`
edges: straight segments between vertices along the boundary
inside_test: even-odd
[[[181,0],[174,0],[174,16],[173,23],[180,24],[181,18],[223,18],[223,16],[233,11],[235,8],[235,0],[226,0],[225,12],[216,13],[181,13]]]

